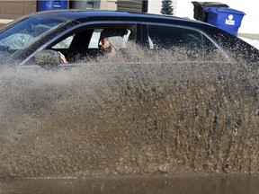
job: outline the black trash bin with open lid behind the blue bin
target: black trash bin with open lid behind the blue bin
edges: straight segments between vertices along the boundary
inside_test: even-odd
[[[229,7],[228,4],[221,4],[219,2],[192,2],[193,18],[202,22],[208,21],[208,13],[204,10],[206,7]]]

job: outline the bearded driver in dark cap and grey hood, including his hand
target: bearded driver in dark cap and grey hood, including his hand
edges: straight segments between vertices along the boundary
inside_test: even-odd
[[[103,56],[98,58],[100,61],[121,62],[120,49],[123,47],[123,36],[121,31],[116,29],[105,29],[101,32],[98,48],[103,51]],[[60,59],[62,63],[68,63],[67,58],[61,53]]]

